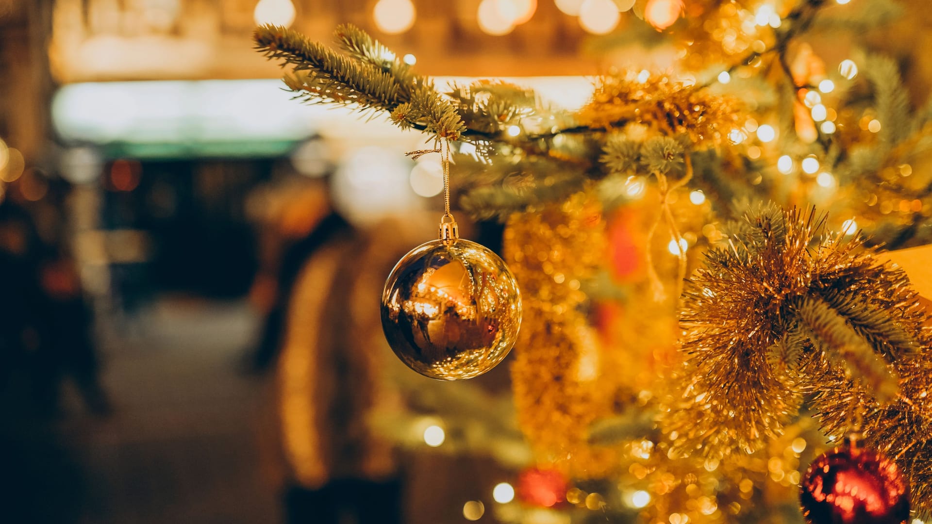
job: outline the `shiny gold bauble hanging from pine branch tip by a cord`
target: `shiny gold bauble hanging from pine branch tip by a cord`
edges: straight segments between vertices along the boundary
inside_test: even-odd
[[[521,294],[499,255],[473,241],[429,241],[391,270],[382,329],[391,350],[432,379],[472,379],[511,351]]]

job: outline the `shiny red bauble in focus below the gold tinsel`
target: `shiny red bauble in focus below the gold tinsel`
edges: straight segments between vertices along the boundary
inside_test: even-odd
[[[845,445],[809,466],[800,502],[810,524],[901,524],[910,517],[910,486],[896,462]]]

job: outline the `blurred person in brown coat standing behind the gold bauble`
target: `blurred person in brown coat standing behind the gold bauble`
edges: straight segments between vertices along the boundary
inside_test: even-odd
[[[317,191],[326,195],[323,186]],[[394,263],[435,227],[405,220],[368,231],[350,225],[329,200],[310,200],[320,206],[305,213],[313,227],[281,256],[281,324],[263,338],[274,348],[260,350],[277,362],[286,522],[400,523],[395,451],[370,427],[376,413],[401,403],[383,373],[398,363],[385,360],[394,358],[387,348],[377,351],[385,345],[379,302]]]

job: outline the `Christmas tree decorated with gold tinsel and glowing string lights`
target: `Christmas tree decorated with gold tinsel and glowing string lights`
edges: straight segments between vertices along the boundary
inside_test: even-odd
[[[524,308],[512,398],[410,384],[448,425],[484,424],[446,449],[528,467],[524,503],[496,493],[508,522],[801,522],[801,485],[824,488],[806,466],[836,444],[859,475],[896,470],[871,478],[898,499],[877,520],[826,519],[812,502],[807,518],[903,521],[907,483],[909,518],[932,517],[929,313],[879,248],[929,241],[932,176],[913,165],[932,105],[911,106],[894,60],[852,46],[826,62],[808,43],[901,8],[633,11],[678,67],[601,76],[573,111],[494,79],[438,88],[351,25],[336,48],[255,31],[298,99],[424,133],[453,153],[457,207],[505,224]],[[410,441],[395,422],[386,431]]]

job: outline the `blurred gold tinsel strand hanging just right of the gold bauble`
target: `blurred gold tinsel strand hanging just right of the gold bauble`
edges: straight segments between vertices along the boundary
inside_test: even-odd
[[[541,462],[570,476],[605,475],[617,468],[617,452],[586,440],[592,422],[612,413],[617,382],[581,290],[605,258],[601,206],[578,193],[514,214],[504,253],[524,291],[525,326],[512,365],[518,423]]]

